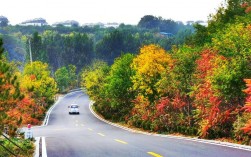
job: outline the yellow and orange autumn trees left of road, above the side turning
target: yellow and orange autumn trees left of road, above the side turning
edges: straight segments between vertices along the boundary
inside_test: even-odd
[[[27,65],[21,74],[2,56],[2,40],[0,49],[0,133],[7,131],[14,136],[22,125],[41,123],[57,87],[46,64],[34,62],[33,67],[30,65],[32,70]]]

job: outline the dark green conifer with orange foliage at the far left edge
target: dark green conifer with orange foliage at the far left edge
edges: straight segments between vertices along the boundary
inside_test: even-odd
[[[12,119],[8,112],[13,111],[17,103],[23,99],[20,92],[19,82],[15,75],[14,67],[2,56],[3,42],[0,39],[0,133],[4,127],[8,127],[9,134],[14,135],[16,128],[20,125],[20,117]]]

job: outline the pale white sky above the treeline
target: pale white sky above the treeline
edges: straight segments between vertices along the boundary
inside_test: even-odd
[[[84,23],[137,24],[145,15],[174,21],[207,21],[224,0],[3,0],[0,16],[15,25],[44,18],[49,24],[66,20]]]

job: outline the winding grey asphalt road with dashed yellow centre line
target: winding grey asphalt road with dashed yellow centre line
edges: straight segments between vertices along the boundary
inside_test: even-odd
[[[68,105],[80,106],[69,115]],[[97,119],[83,92],[67,94],[50,114],[48,125],[33,128],[45,137],[48,157],[251,157],[251,151],[183,139],[133,133]]]

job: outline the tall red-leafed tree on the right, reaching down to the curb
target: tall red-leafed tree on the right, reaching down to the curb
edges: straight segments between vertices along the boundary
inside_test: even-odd
[[[192,94],[199,134],[208,138],[225,136],[229,134],[229,125],[233,123],[230,113],[236,106],[231,106],[224,100],[216,88],[219,84],[216,84],[215,76],[228,61],[213,50],[204,50],[196,63],[196,81]]]

